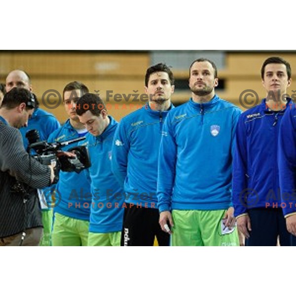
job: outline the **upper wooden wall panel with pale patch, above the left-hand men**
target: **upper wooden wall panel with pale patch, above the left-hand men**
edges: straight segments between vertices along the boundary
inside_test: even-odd
[[[42,53],[13,55],[10,69],[24,69],[31,76],[51,75],[144,75],[147,54]]]

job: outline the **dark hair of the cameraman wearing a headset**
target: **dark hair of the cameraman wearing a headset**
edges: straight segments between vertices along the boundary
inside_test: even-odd
[[[4,95],[2,106],[8,110],[15,107],[26,104],[26,109],[35,109],[36,96],[25,88],[12,88],[8,93]]]

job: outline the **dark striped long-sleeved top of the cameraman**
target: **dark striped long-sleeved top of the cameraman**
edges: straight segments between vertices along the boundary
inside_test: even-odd
[[[50,185],[50,168],[31,158],[20,132],[2,121],[0,117],[0,238],[42,225],[33,188]],[[15,190],[17,182],[23,183],[26,193]]]

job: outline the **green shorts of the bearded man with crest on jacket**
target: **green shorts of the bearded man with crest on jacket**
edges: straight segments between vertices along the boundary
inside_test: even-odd
[[[172,246],[239,246],[236,227],[231,233],[222,234],[222,219],[225,213],[225,210],[174,210]]]

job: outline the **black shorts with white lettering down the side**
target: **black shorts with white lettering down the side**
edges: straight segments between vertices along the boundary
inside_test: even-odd
[[[150,247],[155,237],[161,247],[170,245],[170,235],[161,230],[157,209],[137,208],[126,204],[124,210],[121,246]]]

